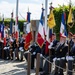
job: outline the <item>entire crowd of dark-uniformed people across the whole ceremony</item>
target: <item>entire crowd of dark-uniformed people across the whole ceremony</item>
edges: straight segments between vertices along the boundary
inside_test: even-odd
[[[6,45],[4,45],[3,39],[0,39],[0,59],[5,60],[23,60],[23,57],[27,60],[28,54],[24,48],[25,36],[24,34],[16,38],[13,35],[6,37]],[[42,71],[40,75],[50,75],[51,63],[55,63],[54,75],[64,75],[63,69],[68,67],[67,74],[73,75],[74,62],[75,62],[75,34],[69,32],[68,39],[65,35],[60,36],[60,40],[56,39],[56,34],[52,33],[52,41],[48,46],[49,53],[45,54],[46,41],[42,48],[38,46],[36,42],[33,42],[27,51],[31,53],[31,69],[35,68],[35,59],[37,61],[37,53],[40,53],[40,67],[39,71]],[[19,56],[20,53],[20,56]],[[48,61],[44,61],[44,56]],[[60,68],[59,68],[59,67]]]

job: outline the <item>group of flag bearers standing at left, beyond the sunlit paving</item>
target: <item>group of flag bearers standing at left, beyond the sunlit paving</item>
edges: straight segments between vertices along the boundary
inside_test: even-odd
[[[8,35],[5,39],[0,39],[0,59],[4,60],[23,60],[24,53],[24,34],[18,40],[14,34]]]

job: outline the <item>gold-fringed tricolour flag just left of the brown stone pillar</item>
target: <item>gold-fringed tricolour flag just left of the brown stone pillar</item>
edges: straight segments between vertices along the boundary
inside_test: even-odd
[[[30,12],[27,12],[27,25],[26,25],[26,36],[25,36],[25,50],[28,50],[29,45],[32,41],[32,28],[30,23]]]

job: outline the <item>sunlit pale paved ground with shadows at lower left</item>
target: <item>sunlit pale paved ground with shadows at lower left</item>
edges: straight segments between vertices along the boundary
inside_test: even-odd
[[[26,66],[26,61],[0,59],[0,75],[27,75]],[[31,75],[35,75],[34,71],[31,71]]]

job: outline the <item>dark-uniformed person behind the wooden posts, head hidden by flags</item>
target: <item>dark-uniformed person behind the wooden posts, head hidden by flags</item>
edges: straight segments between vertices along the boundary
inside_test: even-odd
[[[41,52],[41,49],[40,47],[36,44],[36,42],[34,42],[33,44],[31,44],[29,46],[29,50],[27,52],[24,53],[24,57],[28,58],[28,52],[31,53],[31,69],[34,69],[34,62],[35,62],[35,58],[36,58],[36,55],[37,53],[40,53]]]

